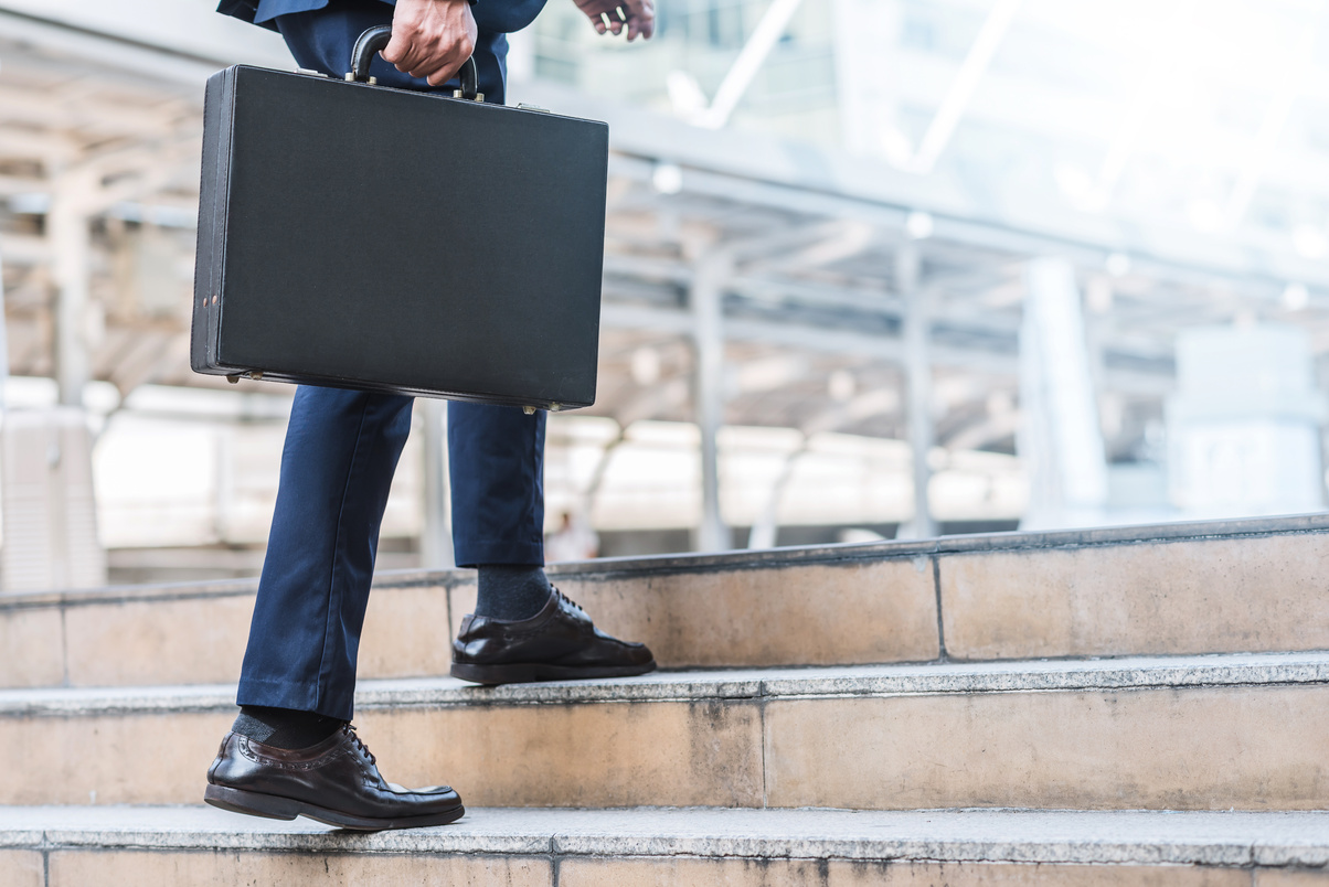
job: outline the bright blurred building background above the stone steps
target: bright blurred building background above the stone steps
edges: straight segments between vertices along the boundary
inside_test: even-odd
[[[187,366],[205,0],[0,0],[0,583],[254,575],[291,389]],[[509,101],[610,123],[602,555],[1314,511],[1321,0],[550,0]],[[383,567],[448,562],[420,401]]]

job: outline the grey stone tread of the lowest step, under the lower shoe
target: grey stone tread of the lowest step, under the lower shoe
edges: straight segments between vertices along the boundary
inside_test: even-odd
[[[1324,866],[1329,811],[472,809],[377,834],[203,806],[0,807],[0,847]]]

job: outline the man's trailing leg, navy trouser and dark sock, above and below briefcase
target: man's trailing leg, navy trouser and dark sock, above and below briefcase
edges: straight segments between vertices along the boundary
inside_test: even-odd
[[[276,27],[302,68],[340,77],[360,33],[391,21],[392,7],[379,0],[331,0],[323,9],[279,16]],[[381,58],[373,70],[384,85],[416,85]],[[298,745],[327,725],[292,712],[351,720],[379,523],[409,421],[405,397],[298,390],[241,679],[246,708],[238,732]]]

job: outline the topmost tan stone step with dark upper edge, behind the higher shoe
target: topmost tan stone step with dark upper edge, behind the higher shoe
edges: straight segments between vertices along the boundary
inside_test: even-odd
[[[1329,515],[607,559],[550,576],[666,668],[1329,649]],[[470,571],[380,575],[361,677],[444,675]],[[235,680],[254,582],[0,595],[0,686]]]

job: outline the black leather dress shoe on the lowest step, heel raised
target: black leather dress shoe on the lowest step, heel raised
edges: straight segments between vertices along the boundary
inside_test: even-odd
[[[350,724],[307,749],[276,749],[227,733],[207,782],[203,799],[222,810],[308,817],[364,831],[441,826],[466,811],[447,786],[409,790],[387,782]]]

